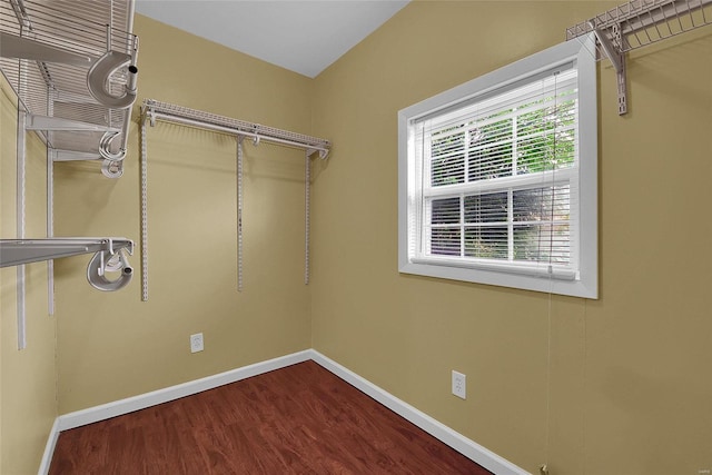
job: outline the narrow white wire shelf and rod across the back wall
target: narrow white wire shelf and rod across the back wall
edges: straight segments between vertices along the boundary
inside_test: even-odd
[[[325,140],[325,139],[305,136],[306,139],[304,141],[300,141],[300,140],[293,140],[293,139],[281,138],[281,137],[274,137],[273,135],[269,135],[269,133],[264,133],[259,131],[251,132],[243,129],[243,127],[247,127],[247,128],[258,130],[259,128],[264,127],[264,126],[260,126],[259,123],[241,125],[239,127],[221,126],[218,123],[212,123],[210,121],[205,121],[196,118],[178,116],[178,115],[166,112],[166,111],[158,111],[152,106],[151,100],[146,100],[144,103],[145,103],[144,113],[148,116],[148,118],[151,120],[151,125],[154,125],[154,121],[158,119],[158,120],[164,120],[168,122],[177,122],[177,123],[182,123],[186,126],[197,127],[201,129],[208,129],[208,130],[215,130],[219,132],[236,135],[239,137],[250,137],[255,139],[257,142],[259,142],[260,140],[265,140],[269,142],[286,145],[289,147],[303,148],[308,150],[310,154],[318,151],[319,158],[322,159],[325,159],[329,154],[330,144],[328,140]],[[200,113],[199,111],[196,111],[196,112]],[[222,119],[225,119],[226,121],[230,120],[228,118],[222,118]],[[289,132],[286,130],[279,130],[279,129],[273,129],[273,128],[269,128],[269,130],[274,130],[277,133],[283,132],[285,135],[293,135],[293,136],[295,135],[294,132]]]

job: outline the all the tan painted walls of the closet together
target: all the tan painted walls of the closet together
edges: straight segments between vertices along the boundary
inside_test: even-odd
[[[601,63],[599,300],[397,271],[397,111],[555,44],[565,27],[613,4],[416,1],[316,80],[137,17],[139,101],[333,140],[329,160],[314,162],[313,280],[303,284],[300,151],[246,145],[238,294],[234,139],[149,129],[148,303],[138,253],[135,281],[110,294],[87,284],[88,257],[72,257],[56,264],[50,318],[44,267],[31,265],[30,346],[17,352],[14,269],[0,271],[0,472],[36,469],[57,413],[309,347],[533,473],[545,462],[552,475],[711,467],[705,29],[631,58],[625,118]],[[12,237],[14,112],[2,101],[0,232]],[[58,236],[138,243],[138,140],[135,123],[118,180],[98,164],[57,167]],[[37,234],[42,194],[29,205]],[[196,331],[206,350],[191,355]],[[466,400],[449,394],[451,369],[467,375]]]

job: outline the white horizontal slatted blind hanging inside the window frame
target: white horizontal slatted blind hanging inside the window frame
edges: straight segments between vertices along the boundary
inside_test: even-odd
[[[567,68],[414,123],[424,227],[416,258],[573,276],[577,75]]]

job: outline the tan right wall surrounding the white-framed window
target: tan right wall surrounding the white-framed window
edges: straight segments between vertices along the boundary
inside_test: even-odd
[[[399,275],[397,111],[611,2],[416,1],[316,80],[314,347],[525,469],[712,466],[712,34],[600,67],[599,300]],[[709,30],[709,28],[708,28]],[[451,370],[468,397],[449,394]]]

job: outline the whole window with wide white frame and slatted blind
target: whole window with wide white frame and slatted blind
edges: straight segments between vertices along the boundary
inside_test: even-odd
[[[399,111],[402,273],[597,298],[591,41]]]

